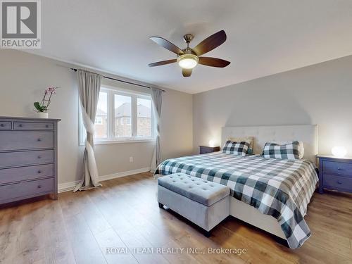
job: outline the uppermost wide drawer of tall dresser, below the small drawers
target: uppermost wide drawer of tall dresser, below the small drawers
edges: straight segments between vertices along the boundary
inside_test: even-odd
[[[0,151],[54,148],[54,132],[0,131]]]

